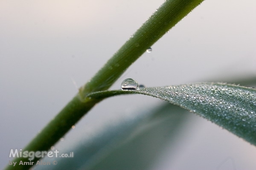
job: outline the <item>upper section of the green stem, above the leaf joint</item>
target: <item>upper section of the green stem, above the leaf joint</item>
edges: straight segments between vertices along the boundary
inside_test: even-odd
[[[107,90],[136,59],[202,1],[166,0],[90,82],[81,88],[82,96],[85,97],[94,91]]]

